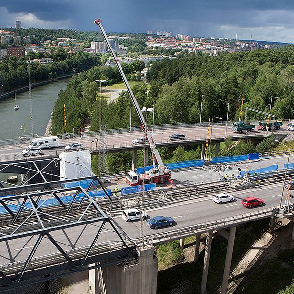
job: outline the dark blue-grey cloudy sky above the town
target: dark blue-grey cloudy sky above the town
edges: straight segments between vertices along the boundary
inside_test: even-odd
[[[294,0],[0,0],[0,27],[171,31],[294,43]]]

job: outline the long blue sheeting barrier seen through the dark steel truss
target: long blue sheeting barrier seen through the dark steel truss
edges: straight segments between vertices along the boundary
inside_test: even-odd
[[[107,195],[108,196],[111,196],[110,189],[107,189],[106,192],[107,192]],[[106,197],[107,196],[104,193],[103,190],[89,191],[88,194],[92,198],[101,198],[101,197]],[[74,202],[81,201],[83,196],[85,196],[84,193],[79,193],[78,198],[76,198]],[[60,197],[60,200],[63,203],[66,204],[66,203],[72,202],[73,197],[74,196],[72,196],[72,195],[68,195],[68,196]],[[50,207],[50,206],[55,206],[57,204],[59,204],[59,202],[58,202],[58,200],[56,198],[49,198],[47,200],[46,199],[42,199],[39,202],[39,205],[41,205],[41,207]],[[32,208],[30,202],[26,202],[24,206],[27,207],[27,208]],[[10,210],[12,212],[17,212],[19,210],[19,206],[16,206],[16,205],[8,205],[8,207],[10,208]],[[7,210],[3,206],[0,206],[0,214],[3,214],[3,213],[7,213]]]

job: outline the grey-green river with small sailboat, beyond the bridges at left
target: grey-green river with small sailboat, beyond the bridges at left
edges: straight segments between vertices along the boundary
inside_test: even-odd
[[[49,122],[54,103],[59,91],[65,90],[70,78],[32,89],[32,109],[34,134],[43,136]],[[20,128],[25,123],[25,135],[31,133],[29,92],[17,94],[16,104],[19,110],[14,110],[14,96],[0,100],[0,140],[18,138],[23,135]]]

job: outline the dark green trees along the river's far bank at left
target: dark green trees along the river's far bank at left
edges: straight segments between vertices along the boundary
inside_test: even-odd
[[[0,63],[0,85],[3,85],[3,91],[10,91],[28,85],[28,67],[27,61],[40,57],[30,52],[25,58],[19,60],[15,56],[4,58]],[[54,62],[45,65],[38,62],[31,62],[31,81],[32,83],[48,80],[58,76],[71,74],[80,71],[86,71],[93,66],[101,64],[100,57],[97,55],[77,52],[67,54],[63,49],[47,57],[53,58]]]

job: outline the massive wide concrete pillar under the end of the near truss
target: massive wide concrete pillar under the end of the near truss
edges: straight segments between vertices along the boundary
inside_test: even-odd
[[[138,248],[138,261],[89,270],[93,294],[156,294],[158,259],[154,247]]]

